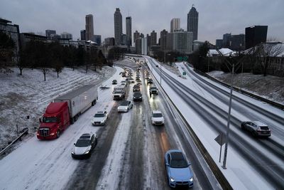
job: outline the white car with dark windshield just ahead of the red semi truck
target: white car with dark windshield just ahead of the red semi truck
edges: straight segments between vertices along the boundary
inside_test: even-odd
[[[74,143],[71,155],[73,158],[90,157],[92,149],[97,145],[97,134],[82,134]]]

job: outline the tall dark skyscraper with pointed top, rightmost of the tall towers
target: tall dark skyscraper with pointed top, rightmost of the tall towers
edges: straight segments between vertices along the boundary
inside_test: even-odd
[[[195,9],[195,5],[192,5],[192,8],[187,14],[187,31],[193,33],[193,40],[197,40],[198,34],[198,12]]]

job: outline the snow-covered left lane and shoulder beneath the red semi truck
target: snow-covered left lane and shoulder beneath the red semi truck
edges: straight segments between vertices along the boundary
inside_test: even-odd
[[[109,78],[115,70],[117,70],[116,74]],[[105,75],[109,80],[106,80],[102,85],[109,85],[111,80],[114,79],[119,80],[121,78],[119,76],[120,71],[121,68],[111,68]],[[67,71],[67,73],[69,73],[70,78],[75,76],[72,70]],[[77,80],[80,80],[80,72],[76,73]],[[84,79],[84,73],[81,73],[81,75]],[[92,78],[92,75],[97,75],[96,82],[103,79],[93,72],[89,74],[89,78],[91,78],[89,81],[94,82],[96,79]],[[70,125],[60,138],[51,141],[40,141],[35,136],[25,139],[25,143],[19,144],[18,149],[0,160],[1,189],[64,189],[77,164],[80,163],[79,160],[71,157],[73,143],[81,134],[85,132],[94,133],[99,130],[100,127],[91,125],[94,112],[103,110],[109,112],[114,105],[111,88],[99,89],[98,91],[99,100],[97,100],[97,104],[80,115],[77,122]],[[35,166],[36,169],[34,169]]]

